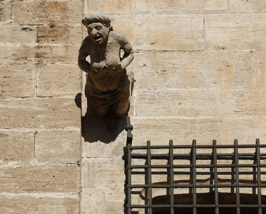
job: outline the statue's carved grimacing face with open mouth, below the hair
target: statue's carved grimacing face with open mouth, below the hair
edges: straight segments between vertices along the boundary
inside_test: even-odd
[[[88,34],[95,44],[103,44],[108,40],[109,27],[102,23],[92,23],[87,26]]]

